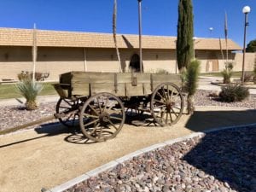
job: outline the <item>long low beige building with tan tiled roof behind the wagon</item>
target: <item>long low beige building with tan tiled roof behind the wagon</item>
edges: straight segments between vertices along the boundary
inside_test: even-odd
[[[119,72],[119,62],[113,44],[113,34],[90,32],[36,31],[38,58],[36,71],[49,73],[47,80],[57,80],[68,71]],[[118,35],[121,66],[125,72],[139,67],[137,35]],[[154,73],[165,69],[177,73],[176,38],[143,36],[143,69]],[[0,28],[0,79],[17,79],[21,71],[32,71],[33,31],[30,29]],[[201,72],[224,69],[226,61],[224,39],[197,38],[195,57],[201,61]],[[241,71],[241,54],[232,53],[241,47],[228,40],[229,59]],[[225,51],[224,51],[225,52]],[[254,61],[254,55],[247,63]],[[251,70],[246,64],[246,69]]]

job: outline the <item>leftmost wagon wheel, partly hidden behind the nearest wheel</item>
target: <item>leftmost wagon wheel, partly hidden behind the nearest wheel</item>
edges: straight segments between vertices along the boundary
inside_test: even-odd
[[[79,99],[59,99],[56,105],[56,113],[63,114],[63,116],[58,118],[62,125],[67,127],[78,125],[80,103]]]

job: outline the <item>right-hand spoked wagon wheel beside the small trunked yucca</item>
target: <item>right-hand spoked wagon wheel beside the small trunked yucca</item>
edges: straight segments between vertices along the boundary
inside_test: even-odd
[[[158,85],[151,96],[150,109],[154,120],[162,125],[177,123],[183,113],[183,95],[176,84]]]

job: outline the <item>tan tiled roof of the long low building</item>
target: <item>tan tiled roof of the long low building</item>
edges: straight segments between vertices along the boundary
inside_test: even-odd
[[[32,29],[0,28],[0,45],[32,46]],[[138,48],[137,35],[117,35],[119,48]],[[197,38],[195,49],[225,49],[225,40]],[[45,47],[114,48],[112,33],[37,30],[37,44]],[[143,36],[143,49],[176,49],[176,37]],[[228,39],[228,49],[241,47]]]

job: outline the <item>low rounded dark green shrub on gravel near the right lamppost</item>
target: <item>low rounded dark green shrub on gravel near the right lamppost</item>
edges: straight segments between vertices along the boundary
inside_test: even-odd
[[[241,102],[249,96],[249,90],[241,84],[228,84],[218,96],[223,102]]]

